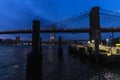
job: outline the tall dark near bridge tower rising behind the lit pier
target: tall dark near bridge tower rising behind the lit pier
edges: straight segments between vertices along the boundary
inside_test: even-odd
[[[90,11],[90,40],[95,40],[95,38],[99,38],[101,40],[101,32],[100,32],[100,16],[99,16],[99,7],[93,7]]]

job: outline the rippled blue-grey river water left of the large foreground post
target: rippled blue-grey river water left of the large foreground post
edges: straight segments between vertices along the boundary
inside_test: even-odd
[[[0,80],[24,80],[26,49],[30,47],[0,45]]]

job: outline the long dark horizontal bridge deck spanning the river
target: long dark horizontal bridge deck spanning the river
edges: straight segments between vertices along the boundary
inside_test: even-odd
[[[90,28],[78,28],[78,29],[41,29],[40,33],[89,33],[92,30]],[[101,28],[101,32],[120,32],[120,28]],[[0,34],[25,34],[25,33],[32,33],[32,29],[30,30],[11,30],[11,31],[0,31]]]

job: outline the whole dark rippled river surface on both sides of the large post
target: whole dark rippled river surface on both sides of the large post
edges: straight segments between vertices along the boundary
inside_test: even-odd
[[[43,46],[44,80],[120,80],[120,65],[101,65],[69,54],[63,46],[58,59],[57,46]],[[0,80],[25,80],[26,55],[30,46],[0,45]]]

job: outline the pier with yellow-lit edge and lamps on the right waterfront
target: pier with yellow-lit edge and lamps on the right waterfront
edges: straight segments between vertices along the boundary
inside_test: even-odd
[[[99,52],[96,53],[93,43],[86,45],[71,44],[69,46],[69,53],[96,63],[120,63],[120,47],[99,44]]]

